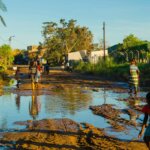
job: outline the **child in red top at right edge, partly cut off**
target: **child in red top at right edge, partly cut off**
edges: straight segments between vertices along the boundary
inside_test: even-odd
[[[142,129],[138,135],[138,138],[141,138],[144,129],[146,127],[147,124],[147,120],[150,116],[150,92],[146,95],[146,101],[147,101],[147,105],[145,105],[142,109],[142,112],[144,113],[144,120],[143,120],[143,125],[142,125]],[[150,119],[149,119],[150,121]],[[150,123],[148,124],[146,131],[144,133],[144,142],[146,143],[147,147],[150,150]]]

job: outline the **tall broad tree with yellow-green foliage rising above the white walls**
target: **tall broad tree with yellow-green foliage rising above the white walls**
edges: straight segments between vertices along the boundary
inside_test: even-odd
[[[76,20],[60,19],[55,22],[43,23],[44,42],[42,47],[47,51],[45,59],[53,64],[62,64],[69,52],[86,49],[89,52],[93,48],[93,35],[87,27],[76,25]]]

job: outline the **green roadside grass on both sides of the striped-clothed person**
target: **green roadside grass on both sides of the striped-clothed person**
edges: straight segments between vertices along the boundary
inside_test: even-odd
[[[140,63],[138,67],[141,82],[150,80],[150,63]],[[96,64],[79,62],[74,68],[81,73],[95,74],[114,80],[128,81],[129,78],[129,63],[117,64],[112,58],[107,58],[105,61],[100,59]]]

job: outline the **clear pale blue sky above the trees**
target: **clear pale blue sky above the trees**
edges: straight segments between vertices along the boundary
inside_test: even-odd
[[[150,0],[3,0],[8,11],[0,12],[7,27],[0,23],[0,45],[12,38],[13,48],[26,49],[42,42],[42,23],[59,22],[61,18],[75,19],[94,35],[94,42],[103,38],[102,24],[106,22],[106,41],[111,46],[125,36],[135,34],[150,41]]]

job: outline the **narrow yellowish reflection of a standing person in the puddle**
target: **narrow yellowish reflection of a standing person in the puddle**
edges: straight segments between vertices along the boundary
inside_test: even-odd
[[[41,103],[37,97],[38,97],[38,92],[33,91],[32,101],[29,102],[29,113],[30,116],[33,118],[33,120],[36,120],[41,109]]]

